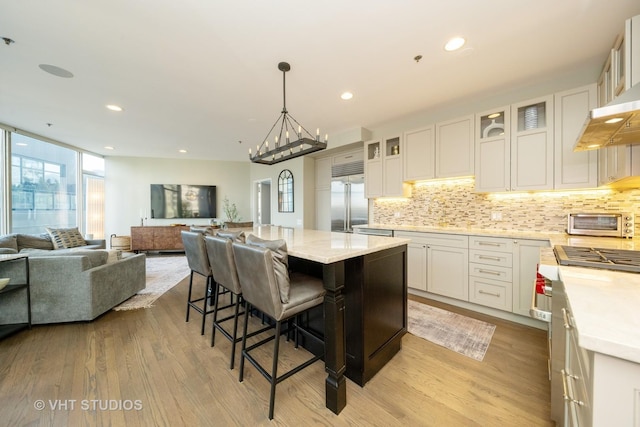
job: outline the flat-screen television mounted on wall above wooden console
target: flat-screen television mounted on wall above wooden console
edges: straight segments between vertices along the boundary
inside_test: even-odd
[[[151,218],[216,218],[216,186],[151,184]]]

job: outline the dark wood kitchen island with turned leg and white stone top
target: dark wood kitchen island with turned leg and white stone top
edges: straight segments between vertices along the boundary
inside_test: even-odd
[[[407,331],[408,239],[259,226],[245,233],[287,242],[289,264],[322,277],[326,406],[347,404],[345,376],[364,385]]]

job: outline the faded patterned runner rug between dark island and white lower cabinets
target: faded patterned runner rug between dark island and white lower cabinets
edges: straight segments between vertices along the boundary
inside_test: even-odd
[[[409,333],[477,361],[484,359],[495,325],[412,300],[408,311]]]

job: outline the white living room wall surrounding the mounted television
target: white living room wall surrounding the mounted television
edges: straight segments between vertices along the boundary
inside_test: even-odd
[[[250,221],[250,163],[196,159],[107,157],[105,159],[105,236],[130,235],[140,225],[140,211],[150,216],[150,184],[215,185],[217,216],[225,220],[222,201],[235,203],[242,220]],[[147,225],[175,222],[206,224],[197,219],[149,219]]]

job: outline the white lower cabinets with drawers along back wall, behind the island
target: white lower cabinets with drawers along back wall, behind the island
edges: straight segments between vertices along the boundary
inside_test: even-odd
[[[407,245],[407,285],[529,318],[546,240],[395,230]]]

